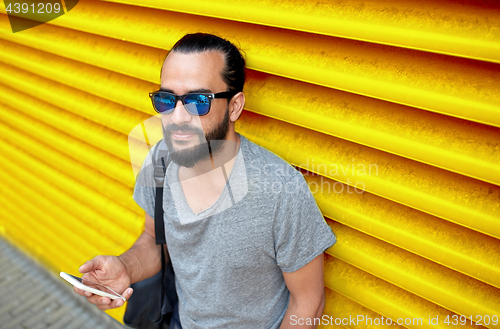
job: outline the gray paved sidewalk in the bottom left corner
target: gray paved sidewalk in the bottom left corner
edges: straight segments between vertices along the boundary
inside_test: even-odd
[[[124,329],[71,285],[0,238],[2,329]]]

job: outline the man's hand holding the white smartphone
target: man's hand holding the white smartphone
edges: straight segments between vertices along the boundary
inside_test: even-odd
[[[118,257],[97,256],[80,266],[79,271],[80,273],[85,273],[83,279],[104,284],[121,294],[127,300],[132,295],[132,288],[129,288],[131,283],[130,277],[125,265]],[[124,304],[122,299],[111,300],[109,297],[95,295],[76,287],[73,287],[73,290],[77,294],[87,297],[87,300],[91,304],[95,304],[103,311],[120,307]]]

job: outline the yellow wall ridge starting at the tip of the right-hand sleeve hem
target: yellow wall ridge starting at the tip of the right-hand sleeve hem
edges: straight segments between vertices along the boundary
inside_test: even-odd
[[[338,237],[330,255],[455,313],[500,317],[500,289],[342,224],[329,224]]]

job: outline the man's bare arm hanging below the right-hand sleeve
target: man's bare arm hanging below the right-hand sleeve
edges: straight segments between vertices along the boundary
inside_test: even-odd
[[[314,323],[314,318],[321,318],[325,307],[323,253],[295,272],[283,272],[283,277],[290,291],[290,302],[280,329],[316,328],[306,325],[306,321]]]

